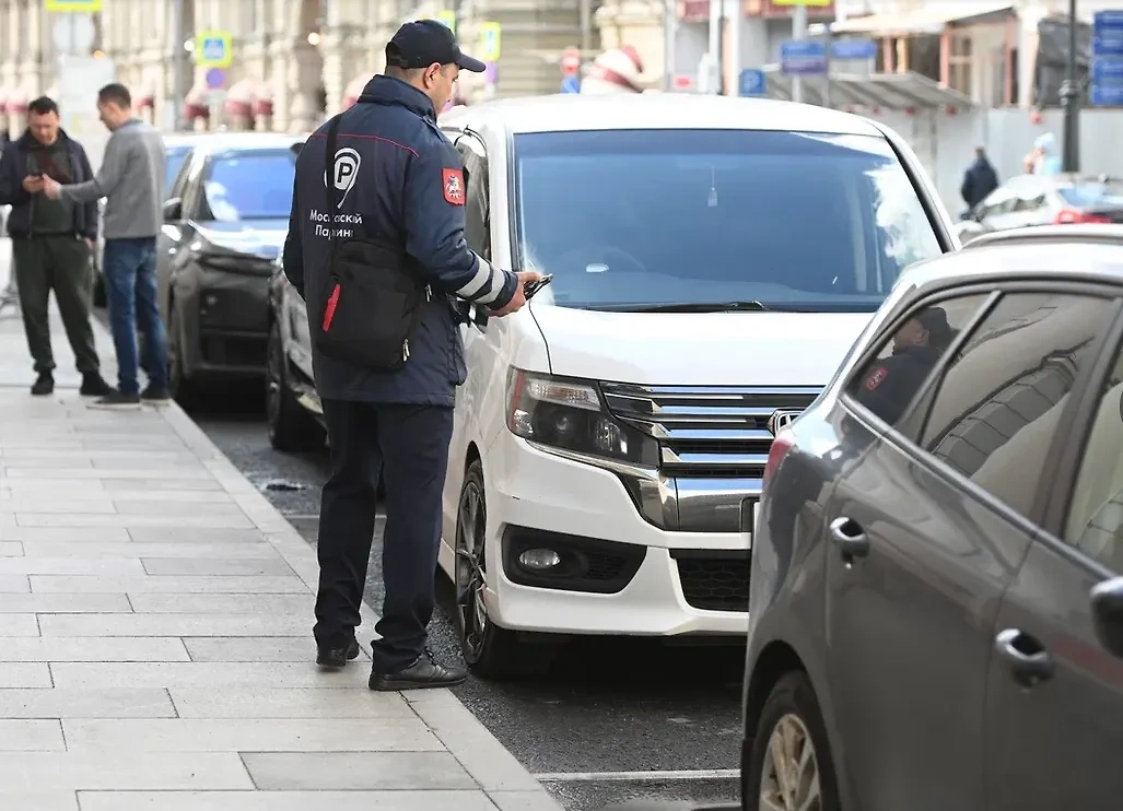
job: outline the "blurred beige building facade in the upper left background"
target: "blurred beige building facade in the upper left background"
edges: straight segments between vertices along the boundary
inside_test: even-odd
[[[103,0],[90,54],[111,60],[137,107],[167,129],[219,127],[304,131],[349,102],[384,66],[401,22],[449,15],[468,53],[499,24],[500,58],[483,78],[466,75],[468,100],[557,92],[564,48],[599,37],[593,0]],[[16,134],[27,102],[57,93],[62,16],[44,0],[0,0],[0,127]],[[179,18],[177,18],[179,16]],[[492,26],[493,28],[493,26]],[[194,35],[229,34],[232,64],[219,88],[197,67]],[[176,83],[176,72],[180,82]],[[184,94],[176,103],[176,89]]]

